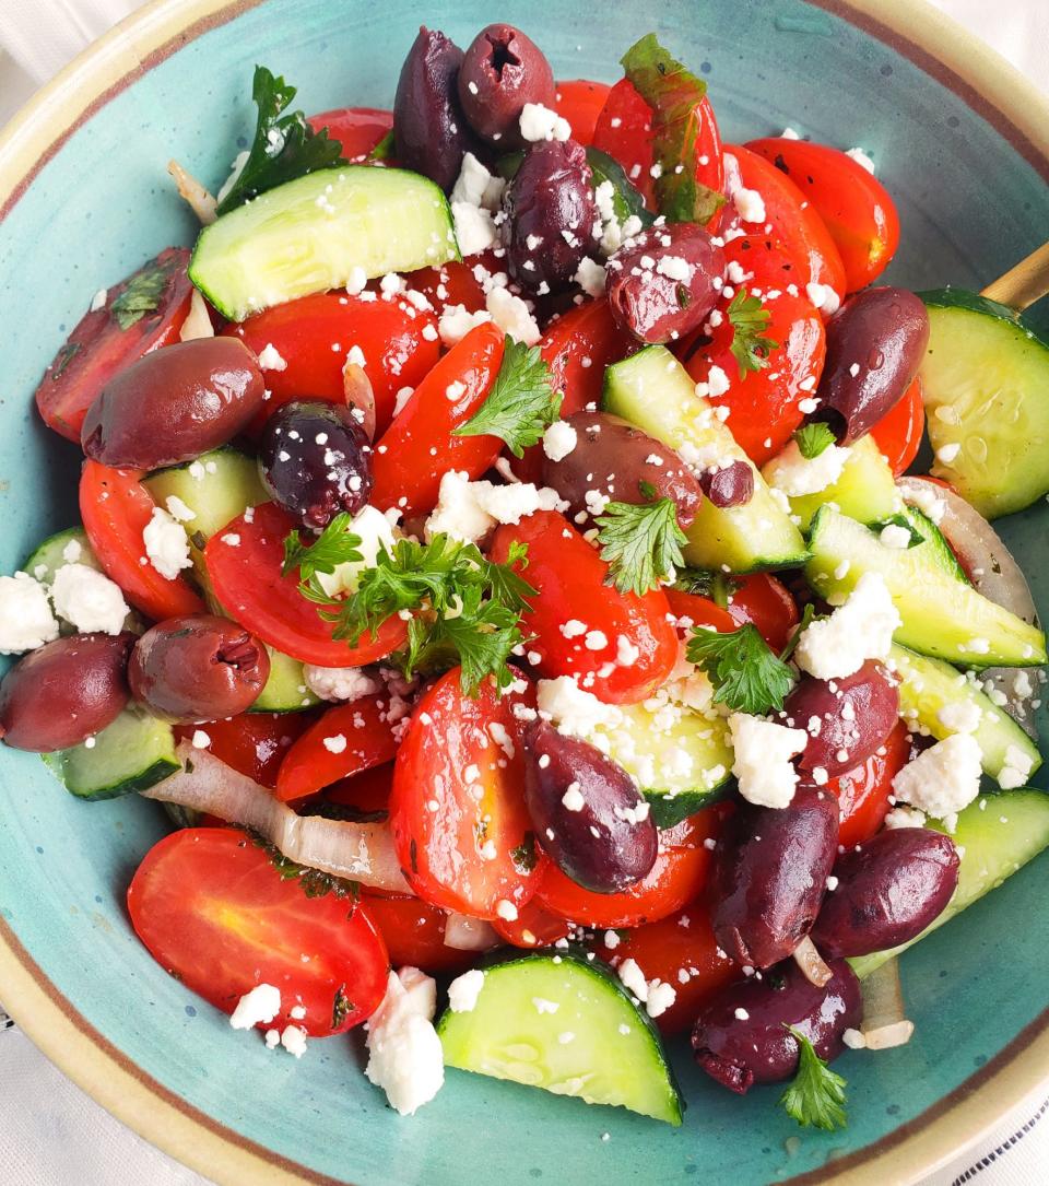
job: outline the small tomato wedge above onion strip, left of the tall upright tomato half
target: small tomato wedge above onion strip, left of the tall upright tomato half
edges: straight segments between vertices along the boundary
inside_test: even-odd
[[[316,795],[340,778],[397,755],[389,696],[364,696],[328,708],[284,754],[277,772],[281,803]]]

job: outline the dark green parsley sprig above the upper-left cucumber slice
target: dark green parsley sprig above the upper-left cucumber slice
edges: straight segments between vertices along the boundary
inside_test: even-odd
[[[251,97],[258,107],[255,140],[237,179],[218,204],[219,215],[318,168],[347,164],[341,144],[328,139],[327,128],[314,132],[302,111],[281,114],[295,97],[295,88],[282,77],[256,66]]]

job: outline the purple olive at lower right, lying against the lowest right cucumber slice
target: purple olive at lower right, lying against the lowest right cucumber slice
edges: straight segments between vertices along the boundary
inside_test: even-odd
[[[927,828],[889,828],[838,857],[812,927],[824,956],[865,956],[913,939],[958,885],[958,848]]]

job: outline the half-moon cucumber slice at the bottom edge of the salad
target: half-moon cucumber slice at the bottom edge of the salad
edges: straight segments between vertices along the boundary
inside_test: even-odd
[[[446,1009],[437,1034],[446,1066],[682,1123],[685,1102],[658,1031],[597,961],[563,954],[495,964],[474,1008]]]

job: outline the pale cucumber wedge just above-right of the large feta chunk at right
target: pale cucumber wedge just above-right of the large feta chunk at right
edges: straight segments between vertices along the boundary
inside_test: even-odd
[[[805,576],[840,605],[864,573],[880,573],[903,625],[895,640],[920,655],[970,668],[1037,667],[1045,636],[945,573],[922,548],[887,548],[862,523],[823,506],[812,521]]]

